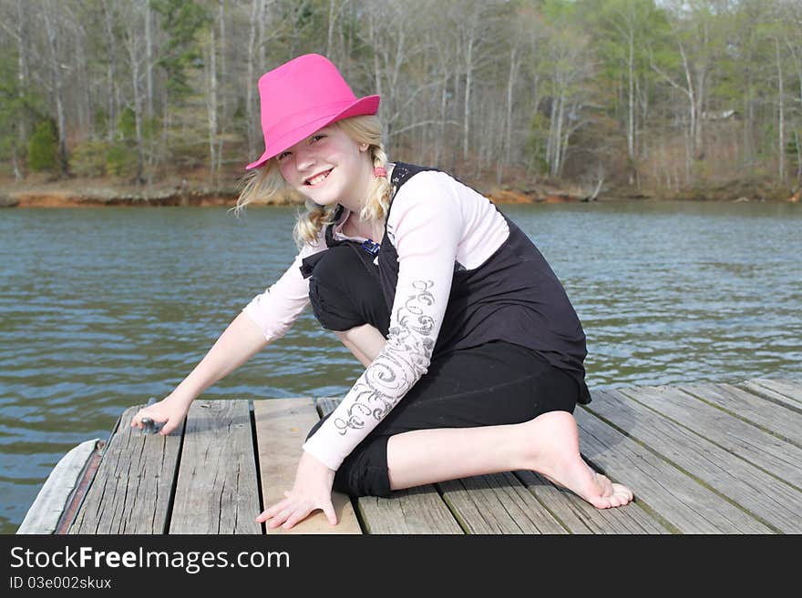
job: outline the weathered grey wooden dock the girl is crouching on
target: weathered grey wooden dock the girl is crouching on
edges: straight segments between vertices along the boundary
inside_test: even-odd
[[[334,497],[270,533],[799,533],[802,380],[595,390],[575,412],[585,459],[635,501],[597,511],[531,471]],[[18,533],[264,533],[306,433],[332,399],[196,400],[170,436],[130,428],[59,463]],[[81,449],[81,451],[78,451]],[[63,461],[65,461],[63,460]],[[58,472],[57,472],[58,471]],[[54,477],[55,476],[55,477]]]

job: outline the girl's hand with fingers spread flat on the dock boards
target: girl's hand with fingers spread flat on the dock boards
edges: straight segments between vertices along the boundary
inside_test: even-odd
[[[337,514],[332,503],[333,483],[334,470],[303,451],[301,461],[298,462],[298,471],[295,472],[293,490],[284,492],[286,498],[262,512],[256,521],[267,522],[269,528],[281,525],[283,529],[289,530],[311,512],[322,509],[329,523],[336,525]]]

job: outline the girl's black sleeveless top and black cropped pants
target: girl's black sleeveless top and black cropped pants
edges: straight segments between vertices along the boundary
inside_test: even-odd
[[[435,169],[396,163],[393,199],[410,177]],[[391,209],[392,200],[387,219]],[[590,402],[579,318],[538,248],[504,218],[509,238],[490,258],[469,270],[455,263],[427,373],[345,458],[334,477],[335,490],[389,496],[386,451],[395,434],[514,424]],[[328,248],[305,258],[302,266],[303,276],[310,278],[315,317],[326,329],[367,323],[386,337],[398,275],[396,248],[386,228],[378,247],[335,240],[333,226],[325,238]]]

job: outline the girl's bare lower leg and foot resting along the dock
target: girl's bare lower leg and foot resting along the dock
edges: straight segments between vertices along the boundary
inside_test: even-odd
[[[568,411],[504,426],[407,431],[387,441],[390,488],[501,471],[537,471],[598,509],[632,501],[632,491],[612,483],[582,460],[579,432]]]

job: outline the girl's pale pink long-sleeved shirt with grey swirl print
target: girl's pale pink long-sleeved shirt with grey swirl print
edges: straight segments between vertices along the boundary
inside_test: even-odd
[[[344,210],[334,238],[348,238],[342,228],[349,216]],[[507,221],[487,198],[431,170],[410,177],[398,190],[387,232],[398,254],[398,282],[386,346],[303,444],[304,451],[333,470],[427,372],[455,261],[475,269],[509,237]],[[301,262],[325,249],[321,231],[283,276],[243,309],[267,340],[283,336],[308,304],[309,282],[303,279]]]

